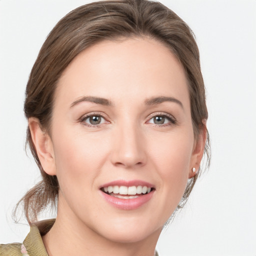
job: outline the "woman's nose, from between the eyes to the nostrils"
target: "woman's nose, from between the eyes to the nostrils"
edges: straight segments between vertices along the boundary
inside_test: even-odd
[[[112,164],[134,168],[146,163],[145,136],[135,124],[120,125],[115,129],[112,139]]]

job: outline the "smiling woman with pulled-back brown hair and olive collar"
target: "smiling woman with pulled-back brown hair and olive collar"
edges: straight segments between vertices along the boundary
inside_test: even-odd
[[[29,234],[0,255],[154,255],[208,153],[188,26],[146,0],[71,11],[39,52],[24,111],[42,181],[20,201]],[[55,203],[56,220],[37,222]]]

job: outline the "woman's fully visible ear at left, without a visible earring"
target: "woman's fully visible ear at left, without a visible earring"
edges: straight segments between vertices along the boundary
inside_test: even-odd
[[[28,125],[43,170],[49,175],[56,175],[54,150],[50,136],[41,129],[37,118],[30,117]]]

